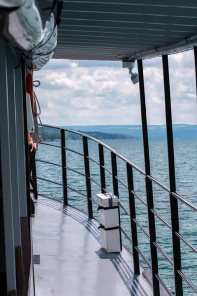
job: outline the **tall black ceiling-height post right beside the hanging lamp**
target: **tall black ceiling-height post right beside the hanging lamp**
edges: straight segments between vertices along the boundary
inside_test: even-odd
[[[160,296],[160,285],[159,285],[159,280],[157,278],[158,256],[157,256],[157,248],[154,245],[154,242],[156,241],[155,216],[151,212],[151,209],[154,208],[153,187],[152,187],[152,181],[147,178],[147,176],[150,175],[150,157],[149,157],[149,145],[148,145],[148,128],[147,128],[147,117],[146,117],[146,102],[145,102],[142,60],[138,60],[137,65],[138,65],[138,74],[139,74],[142,134],[143,134],[144,161],[145,161],[145,172],[146,172],[145,184],[146,184],[147,211],[148,211],[148,223],[149,223],[149,235],[150,235],[151,265],[152,265],[152,276],[153,276],[153,294],[154,296]]]

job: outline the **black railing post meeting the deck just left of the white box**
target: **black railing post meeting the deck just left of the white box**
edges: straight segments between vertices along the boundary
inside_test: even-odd
[[[88,154],[88,139],[83,136],[83,153],[84,153],[84,167],[86,174],[86,192],[87,192],[87,204],[88,204],[88,217],[93,218],[93,208],[92,208],[92,193],[91,193],[91,182],[90,182],[90,164],[89,164],[89,154]]]

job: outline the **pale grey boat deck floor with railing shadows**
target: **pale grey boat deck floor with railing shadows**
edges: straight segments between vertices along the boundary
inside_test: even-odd
[[[36,296],[152,296],[124,247],[113,254],[100,247],[94,219],[39,196],[32,221]]]

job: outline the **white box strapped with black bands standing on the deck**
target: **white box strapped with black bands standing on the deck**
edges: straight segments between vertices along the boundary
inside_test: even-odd
[[[118,197],[109,193],[97,194],[99,203],[100,241],[108,253],[122,250]]]

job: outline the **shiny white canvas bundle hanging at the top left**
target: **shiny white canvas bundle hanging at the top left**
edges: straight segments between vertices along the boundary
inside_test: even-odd
[[[3,36],[22,53],[29,69],[41,69],[53,56],[57,46],[57,24],[54,14],[42,23],[35,0],[0,0],[7,9]],[[44,29],[43,29],[44,28]]]

